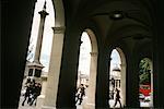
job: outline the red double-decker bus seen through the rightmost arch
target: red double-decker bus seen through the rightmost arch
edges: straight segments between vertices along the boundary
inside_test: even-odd
[[[143,94],[144,96],[150,96],[151,93],[151,85],[147,84],[147,85],[140,85],[140,90],[141,94]]]

